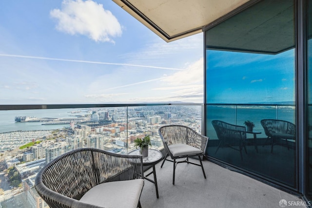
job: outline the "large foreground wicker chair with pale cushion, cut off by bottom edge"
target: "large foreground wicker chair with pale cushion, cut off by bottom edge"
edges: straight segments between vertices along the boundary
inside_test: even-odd
[[[67,152],[36,176],[35,188],[51,208],[141,207],[142,156],[94,148]]]

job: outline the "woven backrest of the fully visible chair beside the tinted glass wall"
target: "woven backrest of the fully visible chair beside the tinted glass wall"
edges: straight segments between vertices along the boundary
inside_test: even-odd
[[[158,132],[167,152],[170,152],[167,150],[167,146],[173,144],[187,144],[201,149],[203,152],[207,147],[208,137],[187,126],[166,125],[160,127]]]

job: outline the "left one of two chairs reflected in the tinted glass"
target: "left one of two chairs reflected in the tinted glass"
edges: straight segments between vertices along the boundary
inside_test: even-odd
[[[246,147],[244,141],[246,139],[246,128],[244,126],[236,126],[233,124],[229,124],[223,121],[213,120],[212,124],[215,128],[216,135],[220,140],[215,153],[219,150],[220,147],[230,147],[234,150],[238,150],[240,152],[240,157],[243,159],[242,149]],[[238,147],[235,148],[235,146]]]

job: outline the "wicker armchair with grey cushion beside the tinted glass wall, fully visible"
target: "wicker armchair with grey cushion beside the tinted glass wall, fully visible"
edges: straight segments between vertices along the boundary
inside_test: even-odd
[[[190,127],[182,125],[163,126],[159,128],[158,132],[166,150],[166,156],[161,164],[161,168],[166,160],[174,163],[172,184],[175,184],[176,165],[183,162],[201,166],[204,177],[206,178],[200,156],[205,155],[208,137],[195,132]],[[169,155],[172,160],[167,159]],[[189,161],[189,157],[194,156],[198,156],[200,165]],[[186,160],[176,161],[176,159],[180,158],[186,158]]]

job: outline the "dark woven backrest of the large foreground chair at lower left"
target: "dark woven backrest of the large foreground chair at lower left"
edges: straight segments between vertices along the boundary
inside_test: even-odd
[[[43,167],[36,176],[35,187],[43,199],[56,192],[79,200],[98,184],[142,176],[141,156],[81,148],[67,152]]]

